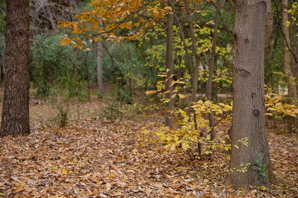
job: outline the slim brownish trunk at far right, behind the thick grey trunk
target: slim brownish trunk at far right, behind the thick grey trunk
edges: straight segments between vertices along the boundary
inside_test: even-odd
[[[282,0],[282,31],[285,35],[284,38],[284,72],[286,74],[286,80],[288,84],[288,95],[289,97],[296,99],[297,91],[296,86],[294,84],[295,80],[293,78],[293,72],[291,68],[291,52],[288,48],[290,47],[290,36],[289,36],[289,27],[287,27],[287,21],[289,21],[288,17],[288,4],[289,0]]]

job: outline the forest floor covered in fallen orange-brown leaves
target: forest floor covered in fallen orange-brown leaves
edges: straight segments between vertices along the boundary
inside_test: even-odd
[[[37,103],[37,104],[33,104]],[[228,159],[190,160],[162,154],[160,143],[140,141],[140,130],[160,124],[154,110],[132,111],[122,122],[99,118],[97,99],[74,111],[69,126],[49,126],[46,104],[31,102],[31,134],[0,138],[0,197],[51,198],[298,198],[297,135],[267,126],[271,162],[280,184],[249,191],[225,186]],[[217,129],[224,137],[226,127]],[[244,174],[244,173],[243,173]]]

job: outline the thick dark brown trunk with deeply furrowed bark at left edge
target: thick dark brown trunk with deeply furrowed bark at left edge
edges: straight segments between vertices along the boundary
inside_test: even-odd
[[[6,0],[1,136],[29,134],[29,0]]]

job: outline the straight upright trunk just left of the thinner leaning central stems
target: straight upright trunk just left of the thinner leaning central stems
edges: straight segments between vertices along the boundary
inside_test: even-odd
[[[173,12],[174,10],[172,10]],[[170,77],[166,82],[165,89],[169,91],[166,94],[166,98],[170,99],[167,103],[167,109],[165,113],[165,125],[170,129],[173,127],[173,114],[171,113],[173,109],[173,102],[171,101],[171,97],[173,95],[173,86],[170,87],[171,82],[173,80],[173,13],[167,14],[167,30],[166,30],[166,52],[165,52],[165,66],[167,75]]]

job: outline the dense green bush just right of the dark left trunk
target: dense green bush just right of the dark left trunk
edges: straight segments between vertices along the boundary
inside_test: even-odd
[[[39,96],[49,96],[50,87],[73,69],[69,59],[74,57],[72,47],[58,44],[57,36],[38,35],[30,46],[30,71]]]

